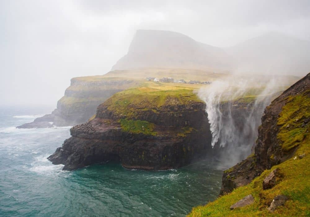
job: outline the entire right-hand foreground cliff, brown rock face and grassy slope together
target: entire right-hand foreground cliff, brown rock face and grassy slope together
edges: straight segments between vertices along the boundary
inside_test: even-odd
[[[221,189],[224,196],[194,208],[190,216],[309,215],[309,122],[310,73],[267,106],[258,128],[254,153],[224,171]],[[275,179],[272,186],[266,188],[263,180],[272,174],[276,174]],[[226,195],[229,192],[232,193]],[[255,199],[252,205],[229,209],[249,194]],[[288,201],[271,214],[266,208],[280,194]]]

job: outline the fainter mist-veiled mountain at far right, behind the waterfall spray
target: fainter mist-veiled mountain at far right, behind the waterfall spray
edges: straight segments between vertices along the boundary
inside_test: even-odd
[[[241,73],[304,76],[310,71],[310,42],[280,33],[267,33],[225,51]]]

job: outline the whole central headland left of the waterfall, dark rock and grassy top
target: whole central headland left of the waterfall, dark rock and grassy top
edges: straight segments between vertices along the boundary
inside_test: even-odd
[[[72,136],[48,159],[64,170],[106,161],[161,170],[210,154],[205,104],[192,89],[152,83],[100,104],[95,117],[71,128]]]

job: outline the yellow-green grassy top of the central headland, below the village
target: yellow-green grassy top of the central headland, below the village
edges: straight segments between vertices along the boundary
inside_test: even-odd
[[[158,113],[161,106],[188,105],[201,102],[194,91],[199,85],[144,82],[143,86],[118,92],[105,101],[108,110],[126,118],[135,118],[136,112],[148,110]]]

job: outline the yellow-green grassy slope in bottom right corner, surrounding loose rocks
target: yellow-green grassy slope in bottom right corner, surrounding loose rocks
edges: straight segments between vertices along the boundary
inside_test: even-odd
[[[189,216],[302,216],[310,215],[310,165],[309,144],[300,148],[296,155],[306,153],[303,159],[290,158],[289,160],[265,170],[262,175],[254,179],[250,184],[233,190],[232,193],[219,197],[206,206],[193,208]],[[263,179],[274,169],[280,168],[284,178],[275,187],[263,190]],[[230,210],[230,206],[243,197],[252,194],[255,202],[249,206]],[[284,206],[270,214],[267,207],[278,194],[290,198]]]

